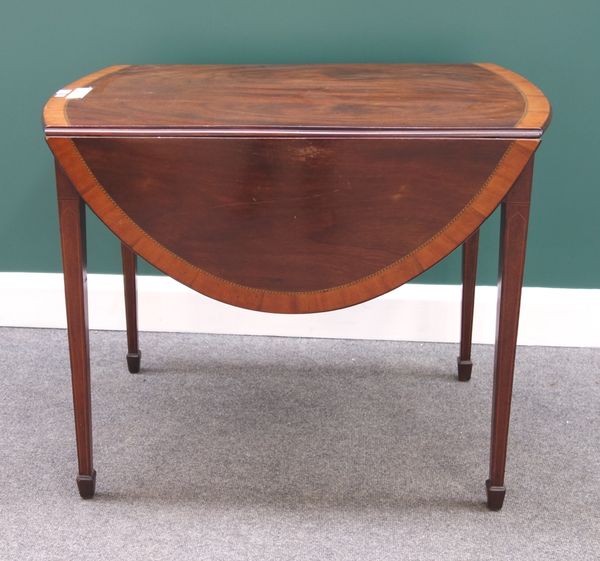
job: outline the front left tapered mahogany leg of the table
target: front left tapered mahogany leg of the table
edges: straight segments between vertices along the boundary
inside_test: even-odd
[[[84,499],[94,496],[96,471],[92,456],[92,403],[88,339],[85,205],[62,168],[56,165],[58,215],[62,246],[71,385],[79,475]]]

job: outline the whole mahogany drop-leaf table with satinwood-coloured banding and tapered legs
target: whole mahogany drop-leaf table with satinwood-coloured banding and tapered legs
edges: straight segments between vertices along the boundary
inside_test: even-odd
[[[307,313],[364,302],[462,244],[471,375],[478,229],[502,206],[487,504],[500,509],[542,92],[493,64],[113,66],[44,109],[82,497],[95,492],[84,205],[121,240],[127,362],[136,255],[207,296]]]

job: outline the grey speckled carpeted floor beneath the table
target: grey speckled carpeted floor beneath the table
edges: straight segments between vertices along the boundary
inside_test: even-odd
[[[520,348],[484,506],[493,349],[92,332],[79,498],[66,334],[0,329],[0,560],[597,560],[600,349]]]

